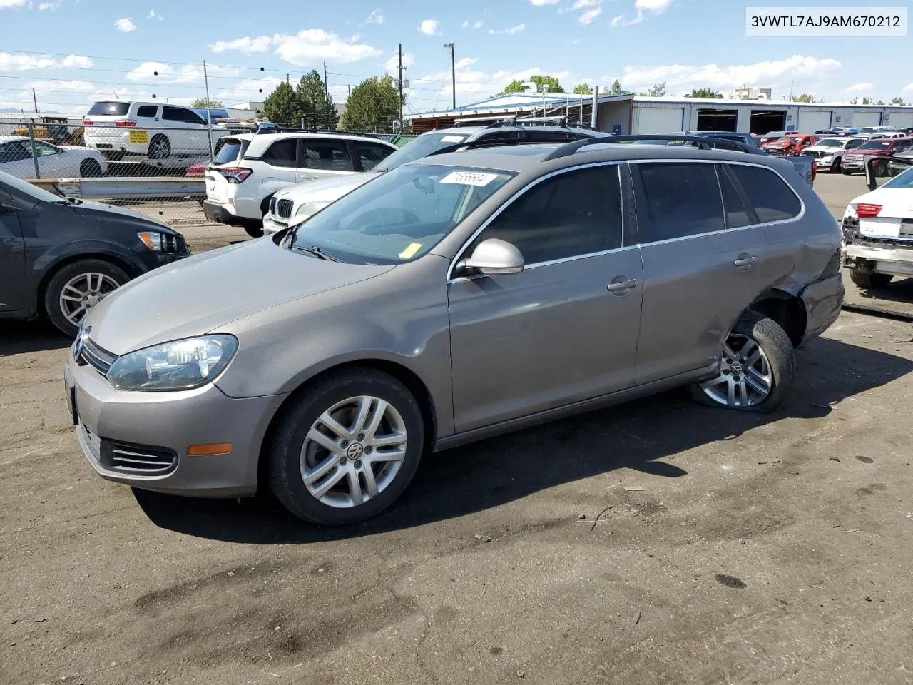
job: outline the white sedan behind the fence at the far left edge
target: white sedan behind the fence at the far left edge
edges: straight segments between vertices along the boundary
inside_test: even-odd
[[[0,171],[16,178],[35,178],[36,158],[41,178],[83,178],[108,171],[105,158],[88,147],[58,146],[45,141],[31,142],[26,136],[0,135]]]

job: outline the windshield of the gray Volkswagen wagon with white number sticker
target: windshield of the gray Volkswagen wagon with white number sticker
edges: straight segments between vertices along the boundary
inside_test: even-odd
[[[320,248],[355,264],[402,264],[434,248],[512,176],[431,164],[400,166],[311,216],[295,231],[292,247]]]

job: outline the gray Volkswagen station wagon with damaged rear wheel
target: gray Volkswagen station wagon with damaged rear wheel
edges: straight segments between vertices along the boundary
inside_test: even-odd
[[[358,522],[432,450],[678,385],[771,411],[840,311],[839,247],[784,160],[593,140],[441,154],[102,300],[68,405],[106,479],[269,488],[305,521]]]

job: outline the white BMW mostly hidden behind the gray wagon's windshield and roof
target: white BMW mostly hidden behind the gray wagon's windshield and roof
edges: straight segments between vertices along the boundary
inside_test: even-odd
[[[335,178],[315,184],[292,185],[273,196],[268,213],[263,217],[263,232],[267,235],[278,233],[289,226],[300,224],[317,214],[323,207],[338,200],[359,185],[366,184],[383,172],[401,164],[427,157],[430,154],[459,143],[469,142],[569,142],[592,138],[604,133],[585,129],[569,129],[566,126],[515,125],[502,121],[488,126],[463,126],[443,131],[431,131],[418,136],[395,154],[383,160],[365,158],[362,153],[362,168],[370,174],[356,174]]]

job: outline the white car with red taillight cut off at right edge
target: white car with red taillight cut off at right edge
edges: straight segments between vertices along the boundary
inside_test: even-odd
[[[913,168],[855,197],[844,213],[844,265],[863,288],[913,276]]]

